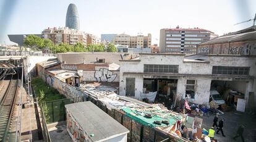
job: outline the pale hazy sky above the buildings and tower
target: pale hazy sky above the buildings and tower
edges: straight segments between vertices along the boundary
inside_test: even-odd
[[[8,34],[41,33],[64,27],[67,7],[77,6],[80,30],[103,33],[151,33],[159,43],[161,28],[204,28],[218,35],[252,26],[255,0],[1,0],[0,44],[14,44]]]

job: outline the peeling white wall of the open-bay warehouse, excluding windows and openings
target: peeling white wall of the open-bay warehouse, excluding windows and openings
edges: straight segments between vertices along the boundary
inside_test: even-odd
[[[202,104],[209,101],[213,65],[250,67],[250,76],[256,77],[256,57],[248,56],[208,56],[209,62],[184,62],[183,54],[140,54],[140,61],[123,61],[120,65],[119,94],[126,95],[126,78],[135,78],[135,98],[139,98],[143,91],[143,78],[153,78],[157,75],[145,75],[144,64],[168,64],[179,65],[179,75],[158,75],[158,78],[177,78],[177,95],[183,98],[186,94],[186,80],[196,80],[195,99],[190,101]],[[171,73],[170,73],[171,74]],[[220,76],[221,77],[221,76]],[[233,80],[231,78],[218,78],[218,80]],[[248,99],[249,92],[256,92],[254,79],[246,78],[245,99]],[[234,88],[239,84],[234,83]],[[243,86],[244,87],[244,86]],[[239,86],[238,90],[242,90]],[[256,97],[255,97],[256,98]],[[256,101],[255,101],[256,102]]]

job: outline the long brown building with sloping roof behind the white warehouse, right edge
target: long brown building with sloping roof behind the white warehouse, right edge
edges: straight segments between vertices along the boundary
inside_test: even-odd
[[[198,44],[197,54],[256,55],[256,26]]]

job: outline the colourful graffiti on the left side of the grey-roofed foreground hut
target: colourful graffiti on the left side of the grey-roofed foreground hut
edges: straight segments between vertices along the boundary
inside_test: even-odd
[[[82,127],[77,123],[69,111],[67,111],[67,132],[72,137],[73,141],[90,142],[87,133],[83,132]]]

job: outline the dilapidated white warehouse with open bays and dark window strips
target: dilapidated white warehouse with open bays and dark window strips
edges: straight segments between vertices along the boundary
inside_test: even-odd
[[[256,92],[255,61],[255,56],[142,53],[120,61],[119,94],[140,99],[157,91],[156,99],[169,98],[163,99],[169,103],[188,97],[203,104],[209,102],[210,90],[229,88],[249,102]]]

